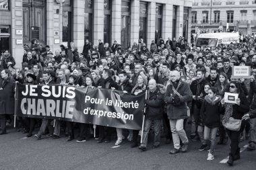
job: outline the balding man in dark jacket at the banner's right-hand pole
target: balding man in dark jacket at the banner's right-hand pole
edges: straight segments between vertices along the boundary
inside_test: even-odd
[[[161,124],[162,117],[164,112],[164,90],[161,90],[156,87],[156,80],[150,79],[148,82],[148,97],[145,101],[146,103],[146,119],[144,123],[144,130],[142,136],[142,142],[139,146],[139,149],[146,151],[148,144],[148,132],[150,132],[150,127],[154,122],[154,144],[153,148],[157,148],[160,145],[161,138]],[[164,87],[165,88],[165,87]]]

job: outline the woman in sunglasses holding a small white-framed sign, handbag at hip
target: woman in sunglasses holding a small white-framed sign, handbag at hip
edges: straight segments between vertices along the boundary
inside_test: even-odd
[[[225,124],[228,122],[229,118],[234,118],[235,120],[241,120],[243,115],[247,112],[249,112],[249,101],[247,100],[247,97],[241,91],[240,84],[236,81],[230,82],[229,85],[229,92],[230,93],[238,93],[238,99],[236,99],[236,103],[225,103],[224,99],[222,99],[221,103],[225,107],[224,117],[222,118],[222,124]],[[243,130],[243,127],[245,126],[245,122],[242,121],[241,124],[241,130]],[[238,132],[234,130],[228,130],[226,129],[226,133],[228,134],[228,137],[230,138],[230,153],[229,153],[229,159],[228,159],[228,165],[232,166],[233,162],[240,159],[240,148],[238,146],[239,144],[239,136],[241,134],[241,130]]]

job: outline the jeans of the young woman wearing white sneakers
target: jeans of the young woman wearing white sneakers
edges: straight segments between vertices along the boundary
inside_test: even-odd
[[[204,140],[210,140],[211,146],[210,146],[210,153],[214,153],[215,145],[216,145],[216,134],[217,134],[218,128],[208,128],[207,126],[204,126]]]

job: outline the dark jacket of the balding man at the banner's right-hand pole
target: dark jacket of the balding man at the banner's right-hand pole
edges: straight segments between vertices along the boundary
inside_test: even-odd
[[[150,120],[162,119],[164,112],[164,94],[159,89],[148,91],[146,103],[146,118]]]

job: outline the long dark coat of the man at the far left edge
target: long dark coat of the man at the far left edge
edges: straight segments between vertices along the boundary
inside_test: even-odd
[[[5,81],[0,79],[0,114],[13,115],[15,110],[15,80],[8,77]]]

